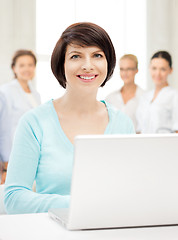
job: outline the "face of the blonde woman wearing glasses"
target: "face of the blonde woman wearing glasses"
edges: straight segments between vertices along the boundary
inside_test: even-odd
[[[138,72],[136,63],[129,59],[120,60],[120,76],[124,84],[130,84],[134,82],[135,74]]]

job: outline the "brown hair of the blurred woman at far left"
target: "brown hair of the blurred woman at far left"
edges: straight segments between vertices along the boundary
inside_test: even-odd
[[[35,54],[31,50],[19,49],[14,53],[14,55],[12,57],[12,62],[11,62],[12,70],[13,70],[13,67],[15,66],[16,62],[17,62],[17,59],[21,56],[31,56],[34,59],[34,63],[35,63],[35,66],[36,66],[37,59],[36,59]],[[15,73],[14,73],[14,77],[15,78],[17,77]]]

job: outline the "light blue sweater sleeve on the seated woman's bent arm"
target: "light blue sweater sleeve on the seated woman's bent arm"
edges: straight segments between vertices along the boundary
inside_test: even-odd
[[[30,116],[27,114],[22,117],[17,127],[8,165],[4,203],[9,214],[46,212],[49,208],[69,205],[69,195],[32,191],[41,156],[43,133],[38,121],[30,119]]]

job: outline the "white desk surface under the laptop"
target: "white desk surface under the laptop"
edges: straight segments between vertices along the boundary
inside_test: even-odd
[[[178,226],[68,231],[47,213],[0,215],[0,240],[178,240]]]

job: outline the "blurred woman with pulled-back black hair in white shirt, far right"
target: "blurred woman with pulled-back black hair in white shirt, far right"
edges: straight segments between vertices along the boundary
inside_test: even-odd
[[[178,91],[169,86],[172,58],[166,51],[156,52],[150,62],[154,89],[141,99],[137,111],[139,133],[178,131]]]

